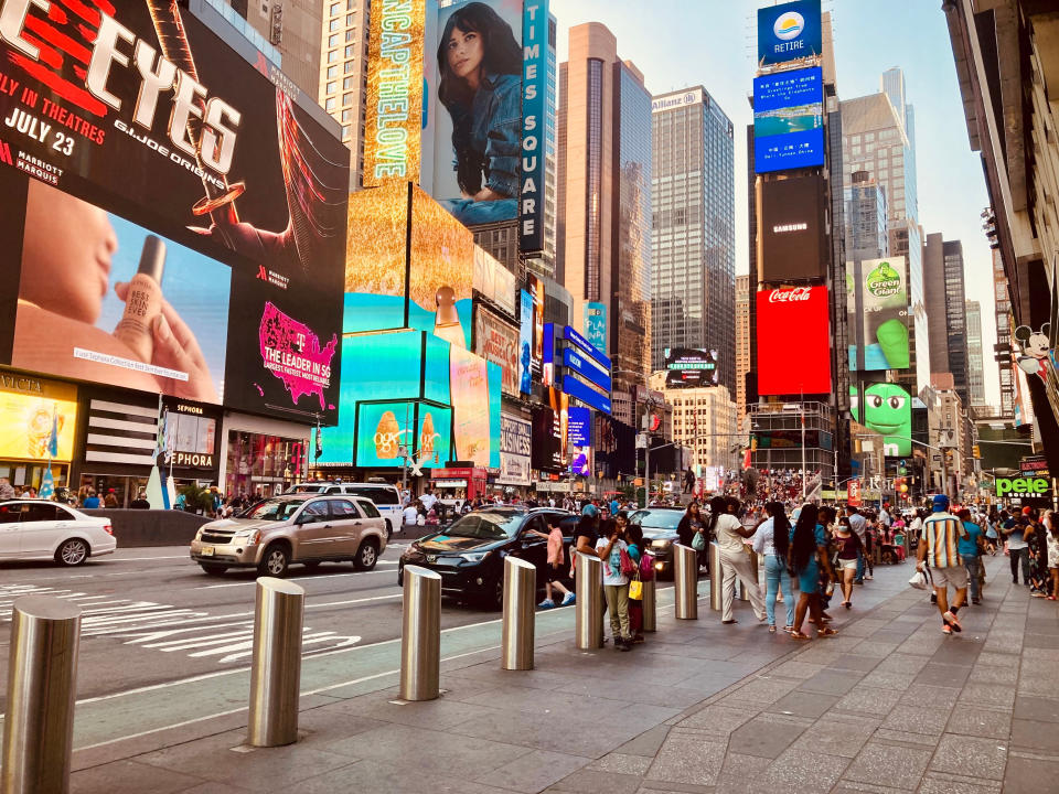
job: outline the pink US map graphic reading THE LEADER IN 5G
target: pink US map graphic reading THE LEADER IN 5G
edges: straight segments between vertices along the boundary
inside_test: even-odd
[[[331,360],[339,344],[334,334],[325,347],[312,330],[281,312],[270,301],[265,304],[258,329],[265,368],[279,378],[297,405],[302,395],[317,395],[325,408],[324,389],[331,385]]]

